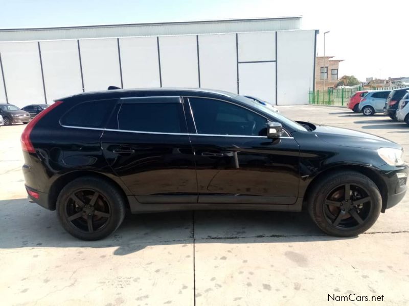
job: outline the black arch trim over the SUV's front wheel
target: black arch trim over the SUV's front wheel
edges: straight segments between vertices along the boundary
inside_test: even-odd
[[[382,197],[382,210],[381,212],[384,213],[385,209],[387,207],[387,202],[388,202],[388,187],[385,184],[385,182],[383,182],[383,180],[381,179],[381,177],[371,168],[365,167],[365,166],[360,166],[360,165],[337,165],[337,166],[333,166],[331,168],[328,168],[322,172],[320,172],[319,174],[317,174],[312,181],[308,184],[304,195],[303,195],[303,203],[306,203],[309,196],[311,195],[311,191],[313,190],[313,187],[319,183],[326,175],[333,173],[333,172],[337,172],[337,171],[345,171],[345,170],[350,170],[350,171],[356,171],[359,172],[363,175],[366,175],[369,177],[369,179],[371,179],[376,187],[378,187],[379,192],[381,194]]]

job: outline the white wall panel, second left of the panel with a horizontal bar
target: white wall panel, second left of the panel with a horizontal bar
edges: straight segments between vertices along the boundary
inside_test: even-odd
[[[159,37],[162,87],[198,87],[196,36]]]

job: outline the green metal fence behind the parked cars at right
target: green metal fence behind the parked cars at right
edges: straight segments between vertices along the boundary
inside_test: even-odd
[[[395,89],[399,87],[353,87],[353,88],[339,88],[333,89],[328,88],[328,90],[316,90],[310,91],[308,94],[308,103],[317,105],[336,105],[336,106],[346,106],[348,104],[349,98],[359,90],[387,90]]]

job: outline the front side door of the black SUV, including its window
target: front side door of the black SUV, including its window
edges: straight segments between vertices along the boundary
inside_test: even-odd
[[[199,203],[296,202],[299,147],[290,135],[268,139],[265,117],[227,101],[185,100],[194,119]]]

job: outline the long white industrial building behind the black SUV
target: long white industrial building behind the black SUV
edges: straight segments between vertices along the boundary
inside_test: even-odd
[[[0,30],[0,103],[83,91],[201,87],[305,104],[315,30],[301,17]]]

